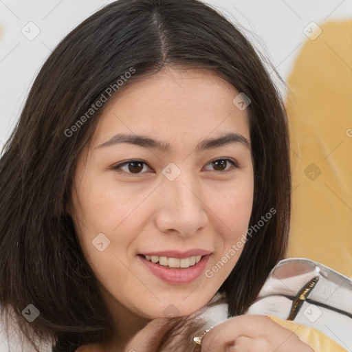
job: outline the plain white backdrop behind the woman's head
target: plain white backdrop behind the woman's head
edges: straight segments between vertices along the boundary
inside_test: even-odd
[[[30,86],[45,58],[78,23],[111,2],[0,0],[0,150],[19,118]],[[352,17],[352,0],[206,2],[249,30],[244,34],[270,58],[284,79],[291,72],[303,43],[309,40],[304,33],[309,23],[314,21],[321,25],[326,21]],[[0,336],[0,352],[8,352],[4,338]]]

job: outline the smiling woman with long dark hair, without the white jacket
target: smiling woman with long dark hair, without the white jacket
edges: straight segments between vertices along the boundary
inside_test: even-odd
[[[120,0],[78,25],[0,175],[1,309],[33,347],[190,351],[225,300],[233,318],[201,351],[313,351],[242,316],[285,255],[287,118],[252,45],[208,5]]]

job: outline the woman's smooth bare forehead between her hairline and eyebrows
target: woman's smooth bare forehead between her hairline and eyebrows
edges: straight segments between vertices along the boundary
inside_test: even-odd
[[[250,138],[248,112],[232,102],[239,91],[204,69],[168,68],[126,85],[105,107],[93,146],[115,133],[184,140],[239,132]],[[189,137],[189,139],[188,139]]]

